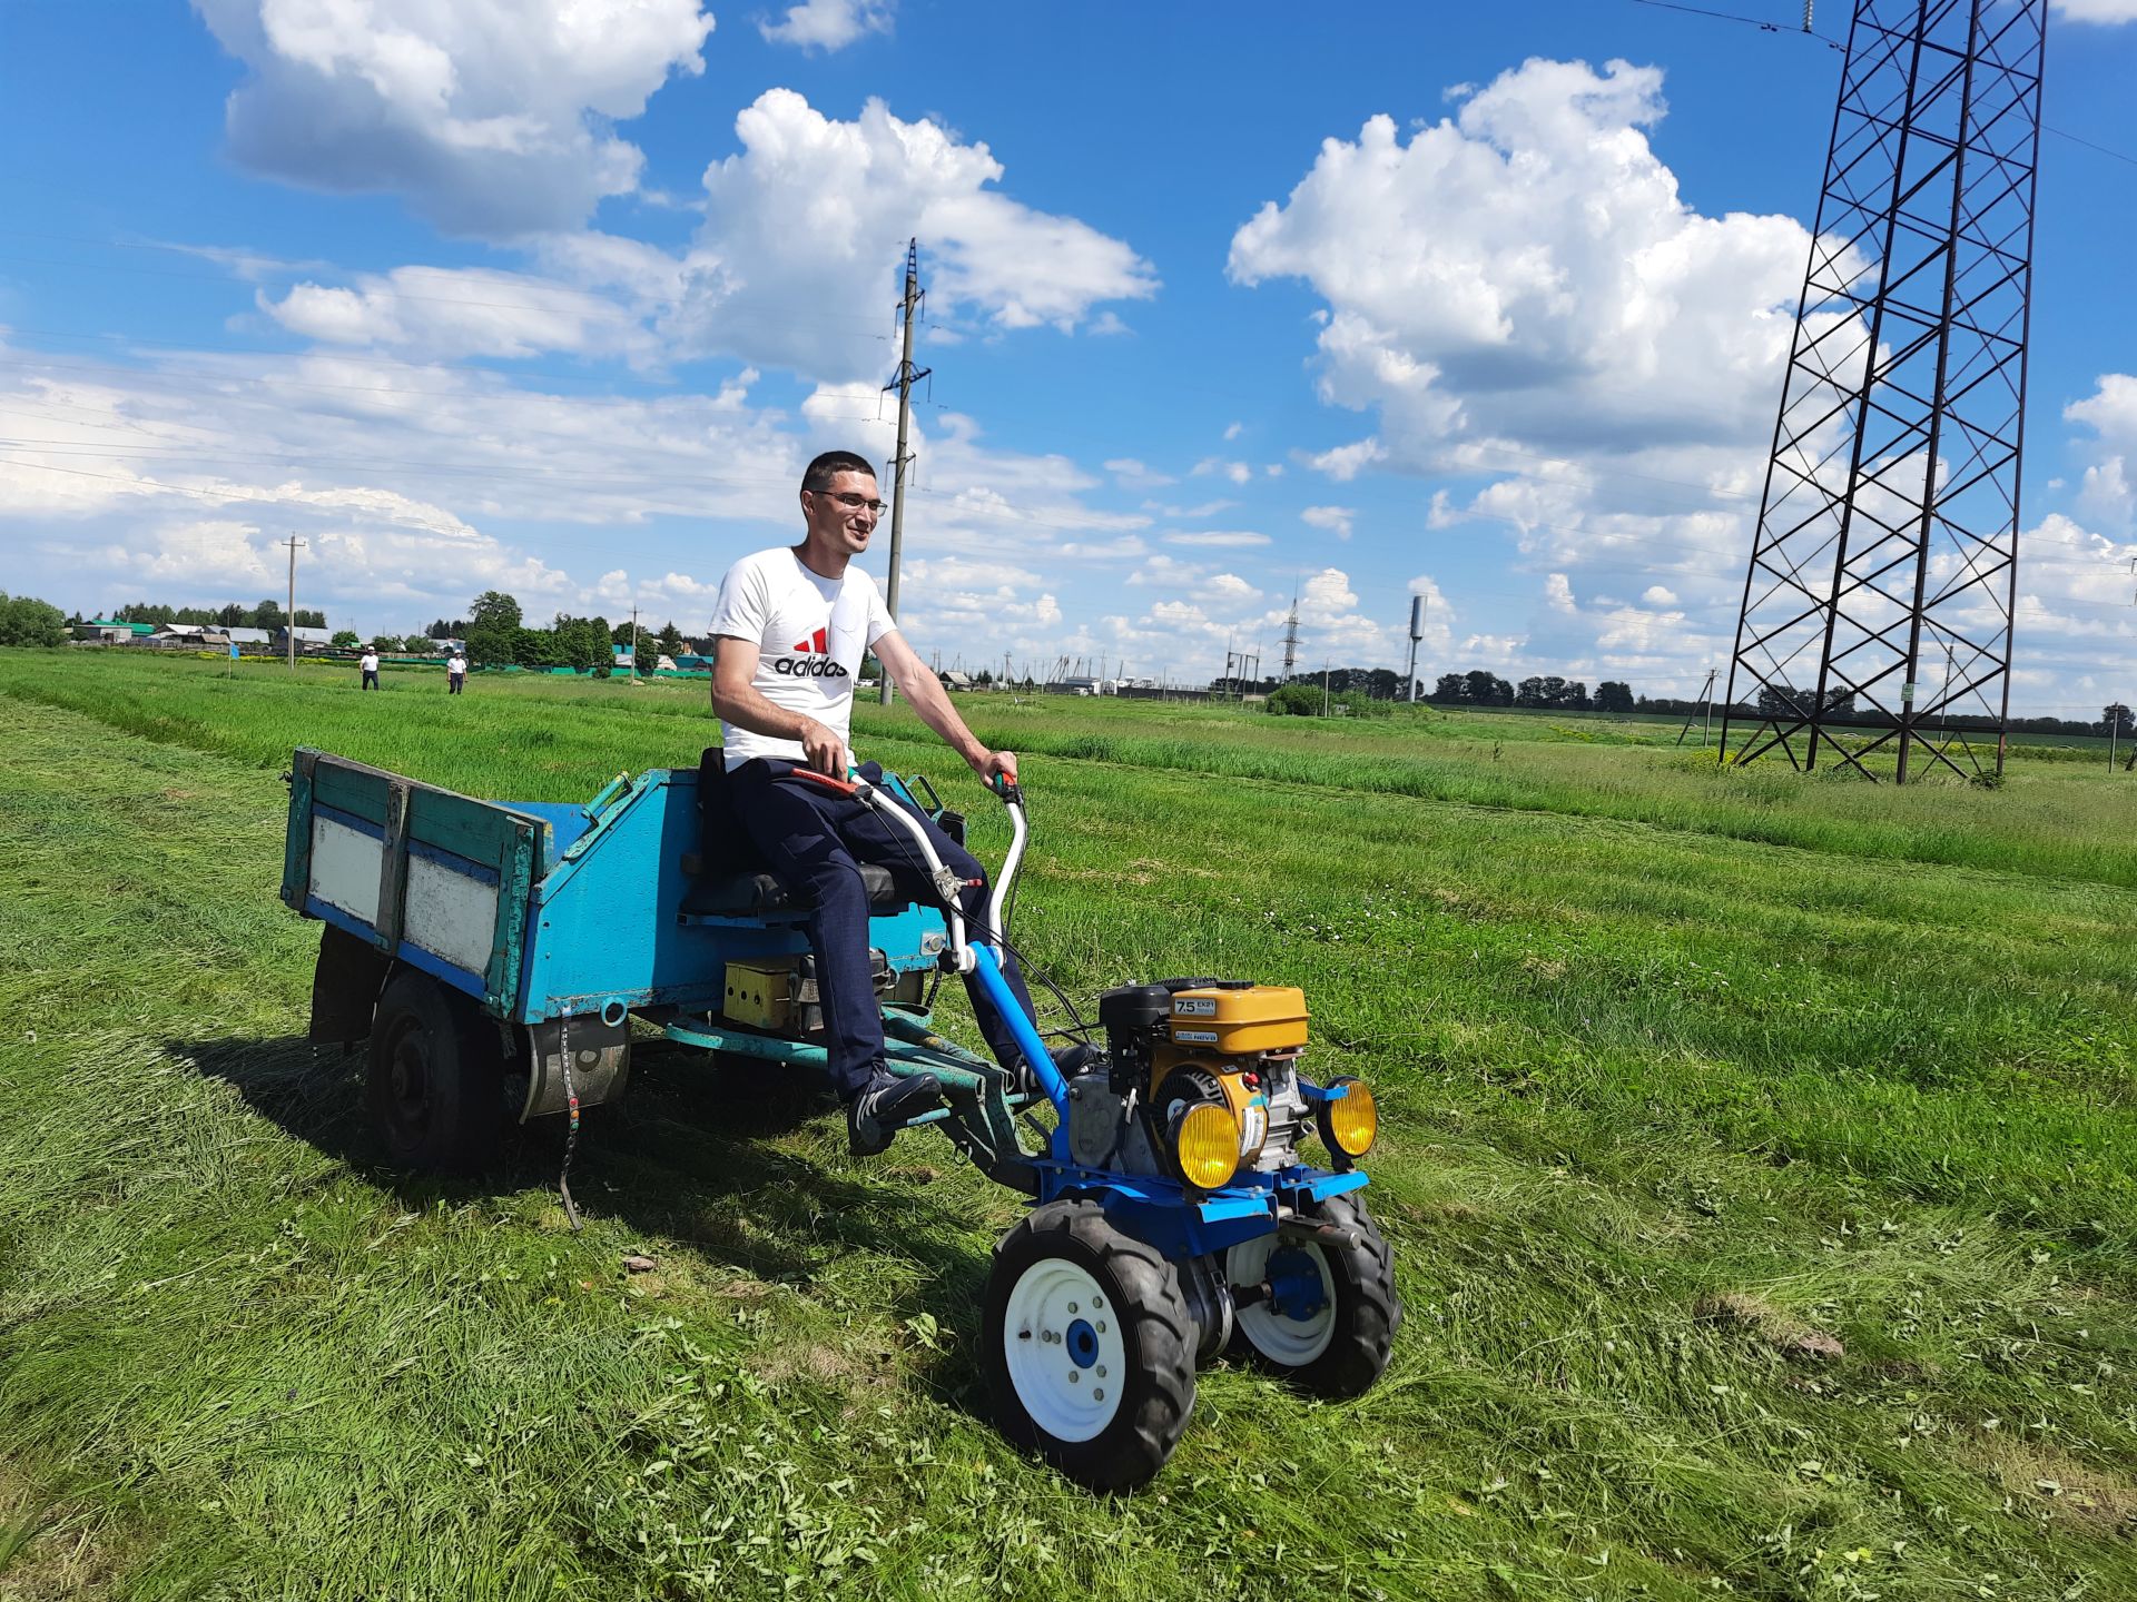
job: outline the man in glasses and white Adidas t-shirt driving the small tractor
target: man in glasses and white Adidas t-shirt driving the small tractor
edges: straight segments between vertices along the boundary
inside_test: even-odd
[[[853,686],[861,656],[874,651],[919,720],[981,780],[1017,782],[1017,758],[974,739],[940,679],[898,632],[876,581],[851,566],[868,549],[880,513],[876,472],[863,457],[851,451],[816,457],[801,476],[801,545],[735,562],[712,615],[718,639],[712,709],[720,718],[727,795],[774,876],[814,897],[808,938],[816,993],[831,1081],[846,1102],[857,1153],[880,1151],[889,1132],[942,1096],[934,1074],[900,1079],[885,1064],[859,865],[891,869],[908,895],[934,899],[936,891],[902,829],[848,795],[797,778],[797,769],[846,778]],[[964,846],[932,822],[925,827],[942,863],[966,880],[957,897],[966,923],[987,931],[985,874]],[[1030,1015],[1013,955],[1004,955],[1002,976]],[[1009,1023],[972,980],[966,989],[987,1047],[998,1062],[1015,1064]]]

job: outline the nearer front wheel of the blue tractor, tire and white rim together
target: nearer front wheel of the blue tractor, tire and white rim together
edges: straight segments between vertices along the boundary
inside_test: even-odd
[[[1011,1444],[1094,1491],[1165,1467],[1195,1412],[1195,1320],[1171,1262],[1096,1203],[1047,1203],[994,1250],[985,1318]]]

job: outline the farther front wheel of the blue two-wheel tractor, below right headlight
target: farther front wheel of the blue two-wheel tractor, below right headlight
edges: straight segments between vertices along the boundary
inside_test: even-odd
[[[1314,1397],[1359,1397],[1387,1369],[1402,1299],[1395,1258],[1366,1203],[1329,1196],[1310,1218],[1353,1230],[1357,1245],[1321,1245],[1263,1235],[1225,1254],[1233,1294],[1267,1284],[1272,1294],[1239,1305],[1233,1352],[1274,1369]]]

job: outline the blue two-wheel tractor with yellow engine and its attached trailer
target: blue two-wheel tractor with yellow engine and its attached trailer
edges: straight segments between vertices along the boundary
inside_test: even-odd
[[[301,748],[288,782],[282,899],[325,925],[312,1038],[365,1042],[395,1164],[474,1173],[511,1121],[577,1128],[624,1094],[633,1038],[825,1064],[810,908],[707,827],[709,775],[654,769],[586,805],[509,803]],[[1000,790],[1015,844],[992,927],[968,931],[917,818],[962,822],[925,780],[818,782],[902,824],[942,886],[915,904],[863,869],[889,1068],[945,1091],[912,1124],[1032,1203],[996,1247],[983,1314],[1002,1431],[1086,1485],[1130,1489],[1186,1429],[1197,1365],[1227,1350],[1312,1395],[1374,1384],[1402,1322],[1359,1194],[1376,1113],[1357,1079],[1304,1072],[1299,991],[1126,985],[1098,998],[1103,1045],[1058,1064],[1000,976],[1021,792]],[[1021,1062],[932,1030],[949,972],[1017,1025]],[[1325,1168],[1304,1160],[1310,1134]]]

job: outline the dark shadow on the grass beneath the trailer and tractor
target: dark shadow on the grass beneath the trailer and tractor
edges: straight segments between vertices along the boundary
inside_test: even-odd
[[[440,1200],[556,1196],[560,1117],[511,1128],[498,1164],[483,1175],[417,1175],[395,1168],[370,1128],[361,1049],[314,1047],[303,1036],[167,1040],[162,1049],[224,1081],[254,1113],[408,1211]],[[680,1241],[739,1275],[804,1292],[853,1254],[904,1258],[921,1273],[898,1275],[902,1292],[887,1312],[968,1326],[985,1299],[989,1252],[972,1241],[970,1209],[910,1183],[949,1166],[949,1143],[936,1147],[908,1132],[870,1171],[840,1173],[797,1151],[793,1138],[808,1141],[808,1126],[833,1109],[821,1079],[748,1062],[716,1066],[701,1051],[635,1040],[628,1094],[588,1109],[581,1124],[573,1198],[588,1222],[613,1218],[633,1235]],[[844,1145],[842,1119],[836,1141]],[[992,1418],[977,1363],[966,1356],[974,1348],[957,1341],[932,1378],[947,1403]]]

